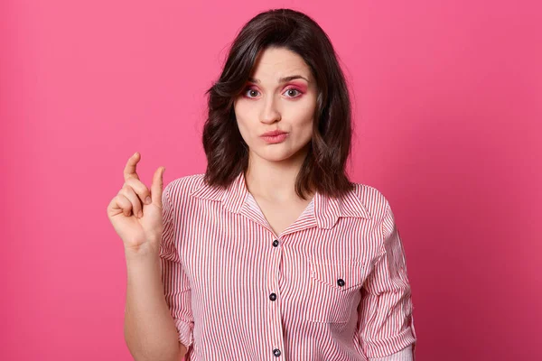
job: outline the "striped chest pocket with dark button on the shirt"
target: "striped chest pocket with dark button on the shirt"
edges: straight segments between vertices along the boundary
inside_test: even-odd
[[[309,260],[309,301],[306,319],[344,323],[356,316],[360,289],[369,267],[361,262]]]

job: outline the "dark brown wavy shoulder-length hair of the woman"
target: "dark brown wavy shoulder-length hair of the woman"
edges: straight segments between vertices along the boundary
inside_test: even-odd
[[[273,9],[248,21],[232,43],[220,79],[206,91],[209,115],[203,125],[207,156],[204,181],[226,188],[248,168],[248,145],[238,130],[233,104],[246,87],[260,51],[285,48],[301,56],[318,88],[313,136],[295,180],[295,192],[317,190],[341,197],[354,188],[346,174],[350,155],[350,97],[332,43],[311,17],[292,9]]]

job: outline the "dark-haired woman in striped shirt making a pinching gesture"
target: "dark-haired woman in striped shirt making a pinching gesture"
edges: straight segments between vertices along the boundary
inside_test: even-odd
[[[412,360],[404,250],[388,200],[346,176],[350,99],[320,26],[258,14],[208,93],[206,172],[163,192],[161,167],[147,190],[135,153],[109,204],[135,359]]]

